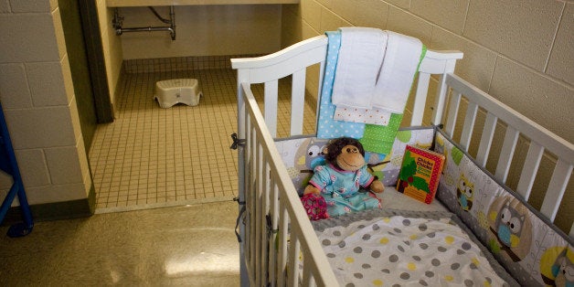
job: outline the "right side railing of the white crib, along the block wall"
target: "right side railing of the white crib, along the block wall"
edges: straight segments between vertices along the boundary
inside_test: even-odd
[[[494,176],[502,183],[506,183],[519,137],[526,138],[528,151],[516,186],[516,192],[526,200],[532,194],[543,154],[546,152],[556,156],[554,172],[547,185],[546,195],[539,210],[548,220],[554,222],[572,174],[574,144],[560,138],[555,133],[551,133],[454,74],[446,76],[445,84],[452,88],[452,95],[449,111],[445,117],[444,131],[452,137],[457,122],[459,129],[462,125],[459,143],[465,151],[468,152],[469,147],[474,142],[472,141],[473,130],[477,126],[476,120],[479,111],[488,111],[485,114],[484,122],[482,122],[483,130],[475,156],[479,165],[485,167],[487,164],[489,154],[493,149],[497,123],[502,122],[502,125],[505,126],[505,136],[500,145],[500,156],[495,162],[494,171]],[[466,104],[465,111],[462,111],[462,102]],[[462,121],[457,120],[459,112],[465,114]],[[574,224],[569,231],[569,236],[574,238]]]

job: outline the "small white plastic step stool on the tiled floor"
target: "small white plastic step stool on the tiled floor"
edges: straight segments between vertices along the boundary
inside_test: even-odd
[[[176,103],[197,106],[203,95],[197,86],[197,79],[160,80],[155,83],[154,100],[162,108],[170,108]]]

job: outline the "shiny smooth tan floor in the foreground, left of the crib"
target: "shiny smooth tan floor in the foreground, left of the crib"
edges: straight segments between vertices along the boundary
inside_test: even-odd
[[[239,286],[237,214],[225,201],[37,222],[0,236],[0,285]]]

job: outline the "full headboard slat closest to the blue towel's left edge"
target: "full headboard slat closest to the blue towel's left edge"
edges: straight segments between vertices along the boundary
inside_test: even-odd
[[[305,106],[305,72],[301,69],[292,75],[291,135],[303,134],[303,107]]]

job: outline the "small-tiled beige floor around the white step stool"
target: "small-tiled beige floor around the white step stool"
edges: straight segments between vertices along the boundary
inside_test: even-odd
[[[237,132],[235,75],[232,69],[126,74],[116,120],[98,127],[90,149],[96,213],[237,197],[237,152],[229,149]],[[155,82],[176,78],[199,81],[197,106],[162,109],[154,101]],[[281,81],[278,136],[288,131],[289,93],[289,82]],[[310,107],[305,120],[314,122]],[[313,123],[305,126],[314,133]]]

